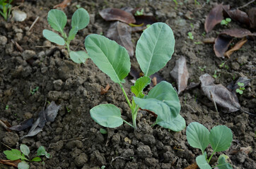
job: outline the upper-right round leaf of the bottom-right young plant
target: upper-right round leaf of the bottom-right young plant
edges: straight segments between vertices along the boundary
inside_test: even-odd
[[[211,129],[209,141],[214,152],[225,151],[231,146],[233,134],[225,125],[218,125]]]

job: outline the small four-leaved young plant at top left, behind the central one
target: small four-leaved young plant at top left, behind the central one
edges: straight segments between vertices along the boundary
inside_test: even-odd
[[[88,12],[84,8],[78,8],[75,11],[71,19],[72,28],[69,30],[69,36],[67,36],[64,32],[64,27],[66,25],[66,14],[63,11],[59,11],[57,9],[50,10],[47,20],[52,29],[59,32],[62,37],[50,30],[43,30],[42,35],[50,42],[54,42],[55,44],[59,45],[65,45],[66,49],[69,51],[71,60],[75,63],[85,63],[86,58],[88,58],[86,51],[71,51],[69,49],[69,44],[71,40],[76,37],[78,30],[82,30],[88,25],[90,20]]]

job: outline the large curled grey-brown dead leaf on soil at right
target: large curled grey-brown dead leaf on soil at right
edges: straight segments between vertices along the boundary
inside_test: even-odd
[[[233,92],[230,92],[222,84],[214,84],[214,78],[209,74],[199,77],[201,89],[211,101],[215,101],[218,106],[223,108],[224,112],[230,113],[240,110],[238,98]]]

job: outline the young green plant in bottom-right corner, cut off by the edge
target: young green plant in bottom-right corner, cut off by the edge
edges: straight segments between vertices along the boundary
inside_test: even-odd
[[[222,154],[218,158],[218,165],[211,167],[209,162],[211,161],[212,156],[216,152],[225,151],[231,146],[233,140],[233,134],[230,128],[225,125],[218,125],[209,130],[197,122],[192,122],[187,126],[187,142],[190,146],[198,148],[202,151],[202,155],[197,156],[196,161],[197,165],[201,169],[211,169],[218,167],[219,169],[231,169],[232,166],[226,161],[228,156]],[[206,147],[211,144],[211,148],[214,152],[211,156],[207,157],[206,152],[204,151]]]

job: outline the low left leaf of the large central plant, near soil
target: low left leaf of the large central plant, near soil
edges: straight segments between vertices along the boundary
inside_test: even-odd
[[[122,125],[121,111],[112,104],[100,104],[90,110],[91,118],[104,127],[115,128]]]

